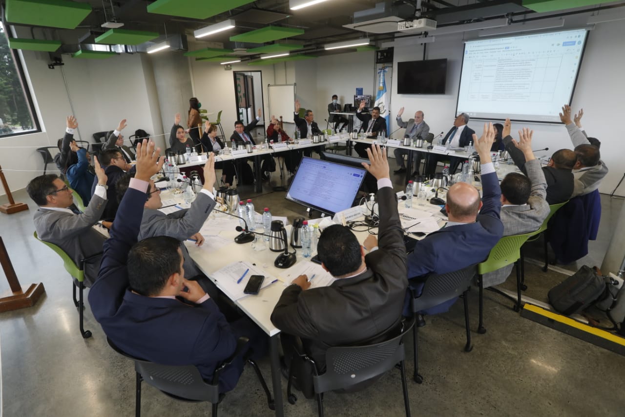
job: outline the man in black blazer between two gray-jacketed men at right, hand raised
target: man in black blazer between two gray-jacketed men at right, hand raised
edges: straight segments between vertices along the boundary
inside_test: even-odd
[[[493,125],[494,126],[494,125]],[[518,147],[514,145],[512,136],[510,136],[511,123],[510,119],[506,119],[502,133],[504,134],[503,143],[507,152],[519,167],[522,173],[527,175],[525,169],[525,155]],[[577,155],[570,149],[561,149],[551,155],[549,163],[542,167],[542,173],[547,182],[547,204],[564,203],[571,198],[574,187],[574,178],[572,169],[577,162]]]

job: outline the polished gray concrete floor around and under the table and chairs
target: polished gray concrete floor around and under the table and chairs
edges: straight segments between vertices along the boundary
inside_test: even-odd
[[[394,167],[391,167],[394,169]],[[402,178],[393,178],[396,189]],[[271,185],[279,185],[274,175]],[[289,220],[304,209],[284,200],[264,183],[258,195],[251,187],[239,189],[256,207],[269,207]],[[32,237],[36,205],[22,190],[16,200],[28,212],[0,215],[4,240],[21,284],[42,282],[46,295],[36,307],[0,314],[2,411],[4,416],[131,416],[134,413],[134,368],[106,344],[106,338],[87,307],[85,327],[93,332],[84,340],[78,331],[78,313],[71,301],[71,281],[56,254]],[[6,198],[0,197],[0,203]],[[599,239],[589,255],[576,264],[600,265],[622,200],[602,195]],[[541,259],[540,241],[529,257]],[[506,282],[511,284],[514,275]],[[542,272],[529,262],[527,295],[546,298],[546,291],[565,275]],[[8,286],[0,280],[0,289]],[[625,395],[619,388],[625,358],[561,332],[522,318],[512,303],[486,292],[486,334],[477,334],[477,291],[469,295],[474,349],[464,353],[462,303],[447,314],[427,317],[419,329],[419,364],[424,382],[408,381],[412,415],[421,416],[622,416]],[[340,319],[340,317],[337,317]],[[412,370],[412,337],[407,337],[406,366]],[[269,363],[260,362],[269,380]],[[283,383],[286,391],[286,383]],[[263,393],[251,369],[246,369],[234,391],[219,406],[222,416],[269,416]],[[329,416],[400,416],[404,413],[399,372],[384,376],[375,386],[356,394],[326,395]],[[155,389],[143,388],[144,416],[210,415],[208,404],[174,401]],[[316,415],[316,403],[299,396],[285,404],[286,416]]]

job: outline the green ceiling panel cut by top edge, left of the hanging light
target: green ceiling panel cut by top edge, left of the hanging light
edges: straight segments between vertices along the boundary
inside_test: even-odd
[[[148,12],[202,20],[253,2],[254,0],[157,0],[148,5]]]

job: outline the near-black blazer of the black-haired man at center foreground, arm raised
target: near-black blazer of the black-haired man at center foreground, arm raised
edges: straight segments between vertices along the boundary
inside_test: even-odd
[[[367,254],[367,270],[337,279],[329,287],[302,291],[284,289],[271,321],[287,334],[299,336],[319,368],[331,346],[354,344],[380,336],[401,319],[406,294],[406,247],[391,187],[377,191],[379,249]]]

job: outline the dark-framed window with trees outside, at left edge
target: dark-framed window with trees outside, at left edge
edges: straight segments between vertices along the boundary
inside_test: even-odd
[[[0,138],[41,131],[16,51],[0,22]]]

